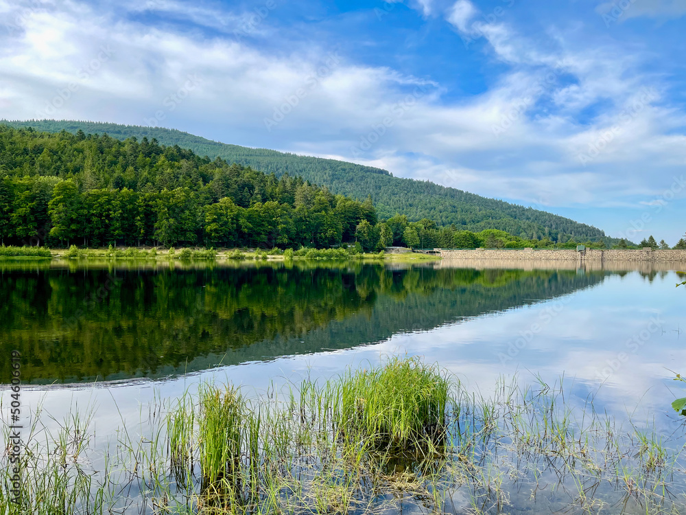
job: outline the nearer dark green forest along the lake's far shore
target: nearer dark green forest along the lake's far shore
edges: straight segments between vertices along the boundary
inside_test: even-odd
[[[498,229],[474,233],[360,202],[299,176],[265,174],[153,139],[0,126],[0,239],[67,247],[204,245],[550,247]],[[592,243],[602,247],[605,242]],[[576,242],[558,242],[571,247]]]

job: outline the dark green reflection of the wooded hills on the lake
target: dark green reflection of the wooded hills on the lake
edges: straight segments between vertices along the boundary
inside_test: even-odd
[[[23,380],[34,384],[159,378],[346,349],[528,306],[606,277],[278,263],[4,263],[0,271],[2,350],[23,354]],[[8,363],[0,373],[9,377]]]

